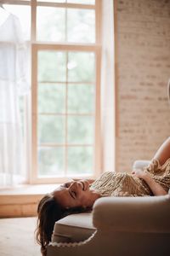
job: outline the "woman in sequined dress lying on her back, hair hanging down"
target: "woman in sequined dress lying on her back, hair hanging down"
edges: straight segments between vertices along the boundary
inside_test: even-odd
[[[157,150],[150,165],[132,174],[105,172],[97,180],[72,180],[39,202],[37,242],[46,255],[55,221],[73,212],[92,209],[101,196],[167,195],[170,189],[170,137]]]

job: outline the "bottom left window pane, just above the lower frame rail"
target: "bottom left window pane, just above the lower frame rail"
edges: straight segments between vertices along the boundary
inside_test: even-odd
[[[38,149],[38,175],[63,176],[65,169],[64,148]]]

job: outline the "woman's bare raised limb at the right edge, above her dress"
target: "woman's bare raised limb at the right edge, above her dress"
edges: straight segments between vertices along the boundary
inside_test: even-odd
[[[160,165],[163,165],[168,158],[170,158],[170,137],[161,144],[161,147],[158,148],[154,155],[154,159],[159,160]]]

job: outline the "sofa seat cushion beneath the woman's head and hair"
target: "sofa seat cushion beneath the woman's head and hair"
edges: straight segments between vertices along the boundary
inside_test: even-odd
[[[95,231],[92,223],[92,213],[83,212],[71,214],[59,219],[54,224],[52,241],[73,242],[88,239]]]

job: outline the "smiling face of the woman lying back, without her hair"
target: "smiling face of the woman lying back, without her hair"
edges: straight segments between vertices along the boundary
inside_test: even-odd
[[[88,182],[72,182],[62,185],[52,193],[56,201],[64,208],[92,207],[99,194],[89,189]]]

